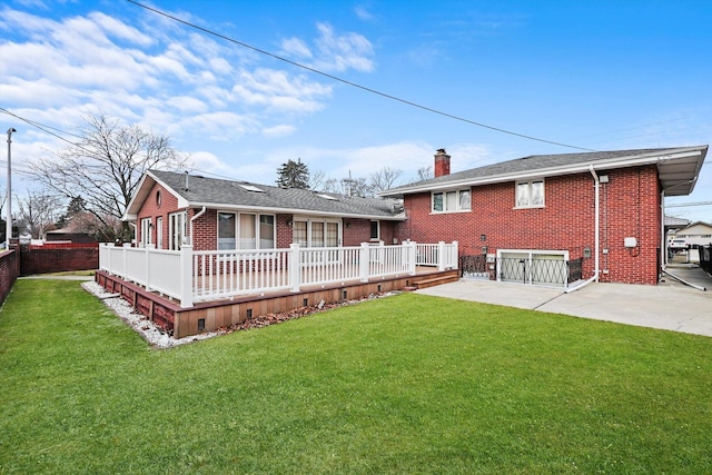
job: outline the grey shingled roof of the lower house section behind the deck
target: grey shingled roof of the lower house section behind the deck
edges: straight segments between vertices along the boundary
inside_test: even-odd
[[[382,220],[404,220],[397,199],[362,198],[297,188],[279,188],[247,181],[206,178],[175,171],[149,170],[131,199],[123,219],[136,219],[154,182],[159,182],[178,198],[178,207],[243,209],[266,212],[338,216]]]

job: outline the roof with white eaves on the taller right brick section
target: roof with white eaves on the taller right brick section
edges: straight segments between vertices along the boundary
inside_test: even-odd
[[[689,195],[704,161],[708,146],[635,150],[594,151],[582,154],[532,155],[500,164],[472,168],[429,180],[417,181],[386,190],[379,196],[402,197],[433,189],[487,185],[530,177],[547,177],[596,170],[657,165],[668,196]]]

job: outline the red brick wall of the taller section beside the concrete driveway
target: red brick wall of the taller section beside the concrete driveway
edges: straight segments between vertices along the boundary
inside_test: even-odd
[[[660,243],[660,187],[656,168],[600,172],[609,176],[601,185],[602,281],[657,283],[656,249]],[[568,250],[571,259],[583,257],[584,278],[594,270],[594,181],[591,174],[545,179],[545,207],[514,209],[514,182],[474,187],[472,211],[431,214],[431,194],[405,197],[408,220],[397,230],[399,239],[418,243],[459,243],[461,255],[479,255],[497,249]],[[482,240],[481,237],[485,236]],[[639,247],[626,249],[625,237]]]

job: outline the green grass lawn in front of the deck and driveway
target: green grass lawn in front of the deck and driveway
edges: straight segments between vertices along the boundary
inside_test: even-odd
[[[413,294],[149,349],[0,310],[0,473],[712,473],[712,339]]]

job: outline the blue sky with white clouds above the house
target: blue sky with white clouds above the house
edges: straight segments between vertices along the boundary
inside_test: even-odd
[[[387,166],[408,181],[438,148],[458,171],[577,151],[546,141],[615,150],[712,137],[710,1],[144,4],[383,95],[544,141],[365,91],[123,0],[3,2],[0,107],[68,132],[100,111],[167,133],[196,172],[261,184],[297,158],[327,178]],[[66,145],[7,113],[0,122],[18,130],[18,174]],[[712,201],[710,162],[694,192],[669,205]],[[32,184],[20,175],[18,186]],[[668,214],[712,222],[711,205]]]

